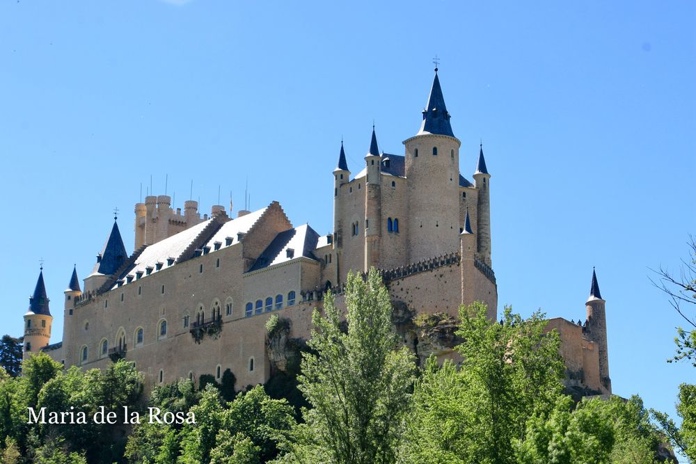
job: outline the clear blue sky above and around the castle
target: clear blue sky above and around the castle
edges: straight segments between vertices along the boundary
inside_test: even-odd
[[[681,322],[649,267],[696,233],[696,4],[673,2],[28,1],[0,3],[0,333],[22,334],[45,259],[54,336],[118,207],[150,184],[175,206],[218,188],[332,224],[341,137],[402,153],[432,83],[461,171],[480,138],[492,179],[500,303],[585,317],[607,300],[614,391],[673,411],[696,369],[668,365]],[[237,209],[237,208],[235,208]]]

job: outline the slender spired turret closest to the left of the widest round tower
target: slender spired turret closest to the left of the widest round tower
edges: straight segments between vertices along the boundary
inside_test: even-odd
[[[371,266],[379,264],[379,236],[381,232],[381,174],[379,166],[379,147],[377,136],[372,126],[372,140],[370,151],[365,155],[365,265],[363,271],[367,272]]]

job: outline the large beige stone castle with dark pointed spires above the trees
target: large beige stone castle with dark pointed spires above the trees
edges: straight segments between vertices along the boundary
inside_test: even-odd
[[[461,304],[487,303],[496,320],[498,290],[491,261],[491,175],[478,153],[473,182],[459,173],[460,141],[435,77],[420,129],[404,154],[380,152],[372,128],[356,175],[341,143],[333,170],[333,234],[293,227],[278,202],[258,211],[198,203],[171,207],[167,195],[135,205],[134,252],[116,218],[92,272],[81,285],[73,269],[63,305],[63,342],[49,344],[52,315],[43,273],[24,314],[24,356],[45,351],[65,365],[103,368],[125,358],[148,385],[230,369],[237,388],[263,383],[282,369],[265,323],[287,319],[289,337],[307,338],[324,291],[336,294],[349,271],[379,269],[397,328],[419,358],[456,358],[452,330],[420,330],[422,314],[457,317]],[[592,275],[585,323],[551,319],[562,340],[566,385],[576,394],[608,394],[605,301]],[[410,314],[410,316],[409,316]],[[450,324],[451,326],[452,324]],[[276,341],[277,342],[277,341]],[[277,348],[277,346],[276,346]]]

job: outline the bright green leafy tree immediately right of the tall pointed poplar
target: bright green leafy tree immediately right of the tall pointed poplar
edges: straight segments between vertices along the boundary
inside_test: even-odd
[[[402,460],[515,463],[514,442],[524,438],[528,419],[551,411],[562,391],[558,335],[546,332],[539,312],[524,320],[506,307],[497,323],[474,303],[459,316],[461,367],[428,360]]]

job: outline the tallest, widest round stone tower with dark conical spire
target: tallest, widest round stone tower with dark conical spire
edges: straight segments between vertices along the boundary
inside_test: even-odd
[[[435,68],[420,131],[404,141],[408,262],[459,250],[459,139]]]

